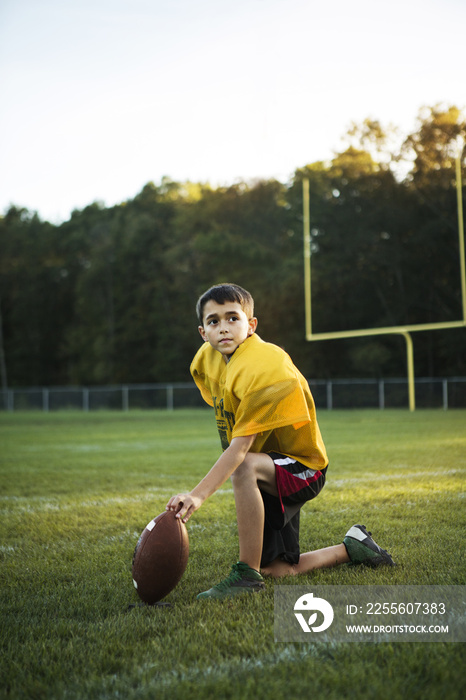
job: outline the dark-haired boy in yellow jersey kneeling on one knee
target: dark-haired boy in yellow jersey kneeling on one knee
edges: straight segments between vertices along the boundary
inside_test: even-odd
[[[197,302],[204,345],[191,374],[213,406],[223,453],[190,493],[167,510],[187,522],[230,477],[235,496],[239,562],[202,598],[227,598],[265,588],[261,575],[302,574],[352,562],[393,566],[362,525],[343,544],[300,554],[299,511],[325,483],[327,454],[309,385],[290,357],[256,334],[249,292],[234,284],[211,287]]]

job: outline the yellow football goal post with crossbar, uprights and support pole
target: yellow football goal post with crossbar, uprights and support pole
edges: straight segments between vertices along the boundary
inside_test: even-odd
[[[466,266],[465,247],[463,229],[463,206],[462,206],[462,185],[461,185],[461,154],[456,161],[456,187],[458,197],[458,235],[460,254],[460,276],[463,320],[445,321],[440,323],[420,323],[405,326],[389,326],[386,328],[363,328],[351,331],[332,331],[328,333],[312,332],[312,293],[311,293],[311,225],[309,206],[309,179],[303,179],[303,237],[304,237],[304,309],[306,340],[310,342],[318,340],[338,340],[343,338],[361,338],[376,335],[401,335],[406,342],[406,367],[408,379],[408,399],[409,410],[416,409],[415,384],[414,384],[414,353],[411,332],[444,330],[448,328],[466,327]]]

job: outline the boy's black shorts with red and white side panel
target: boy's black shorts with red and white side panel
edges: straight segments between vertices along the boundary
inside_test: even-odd
[[[312,470],[291,457],[269,452],[275,464],[278,497],[261,490],[265,507],[261,566],[277,558],[299,561],[299,513],[322,491],[327,467]]]

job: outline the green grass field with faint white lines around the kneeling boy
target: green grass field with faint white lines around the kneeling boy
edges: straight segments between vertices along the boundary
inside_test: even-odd
[[[398,566],[283,583],[464,584],[466,412],[319,417],[330,468],[303,510],[303,551],[360,522]],[[275,643],[270,580],[196,601],[237,558],[229,484],[188,523],[173,606],[128,610],[140,532],[218,453],[208,410],[0,414],[0,697],[464,697],[461,644]]]

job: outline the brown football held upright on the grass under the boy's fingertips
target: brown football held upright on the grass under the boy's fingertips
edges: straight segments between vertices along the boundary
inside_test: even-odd
[[[144,603],[154,605],[180,581],[189,556],[186,525],[167,510],[150,521],[133,555],[133,583]]]

